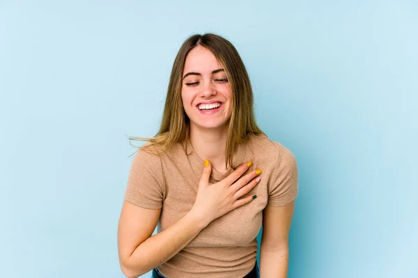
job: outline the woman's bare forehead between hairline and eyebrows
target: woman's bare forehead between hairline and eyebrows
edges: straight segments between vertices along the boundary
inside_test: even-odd
[[[215,55],[205,47],[198,45],[186,56],[184,72],[212,72],[222,68]]]

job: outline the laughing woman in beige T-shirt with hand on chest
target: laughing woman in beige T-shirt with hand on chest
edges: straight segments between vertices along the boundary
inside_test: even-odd
[[[286,277],[297,163],[258,128],[231,42],[205,34],[183,43],[149,141],[132,161],[118,226],[127,277]]]

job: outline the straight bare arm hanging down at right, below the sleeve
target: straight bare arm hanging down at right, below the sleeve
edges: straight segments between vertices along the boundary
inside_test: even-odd
[[[295,201],[284,206],[266,206],[263,211],[261,238],[261,277],[286,278],[288,270],[288,235]]]

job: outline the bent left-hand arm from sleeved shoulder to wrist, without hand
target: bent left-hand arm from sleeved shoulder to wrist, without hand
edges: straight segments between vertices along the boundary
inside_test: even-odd
[[[151,236],[160,218],[164,176],[160,157],[139,149],[132,161],[118,224],[118,255],[127,277],[138,277],[171,259],[206,227],[187,213]]]

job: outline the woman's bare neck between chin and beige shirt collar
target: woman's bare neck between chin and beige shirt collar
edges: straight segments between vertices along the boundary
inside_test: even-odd
[[[219,129],[202,129],[199,126],[190,124],[190,142],[198,156],[208,160],[217,172],[226,171],[226,138],[228,126],[221,126]]]

